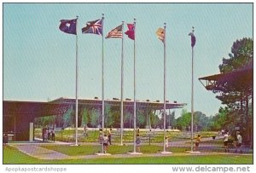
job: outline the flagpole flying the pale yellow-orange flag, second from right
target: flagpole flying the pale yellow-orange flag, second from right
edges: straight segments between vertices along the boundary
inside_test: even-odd
[[[166,152],[166,23],[164,24],[164,152]]]

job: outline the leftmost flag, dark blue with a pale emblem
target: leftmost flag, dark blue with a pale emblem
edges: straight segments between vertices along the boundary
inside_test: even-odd
[[[75,20],[61,20],[59,26],[61,32],[77,35],[77,19]]]

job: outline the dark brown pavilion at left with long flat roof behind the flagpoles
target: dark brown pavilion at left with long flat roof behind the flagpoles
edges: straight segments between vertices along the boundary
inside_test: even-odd
[[[120,100],[113,98],[105,100],[106,105],[120,107]],[[166,109],[182,108],[185,103],[166,101]],[[13,134],[13,141],[34,140],[34,118],[63,115],[70,108],[75,107],[75,99],[59,98],[54,101],[3,101],[3,133]],[[162,110],[164,103],[160,101],[137,101],[137,109]],[[79,99],[79,111],[83,108],[102,109],[102,100]],[[74,109],[74,108],[73,108]],[[133,111],[133,101],[125,99],[124,109]]]

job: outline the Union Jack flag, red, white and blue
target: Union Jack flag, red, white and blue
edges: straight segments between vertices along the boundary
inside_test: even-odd
[[[82,33],[94,33],[102,35],[102,20],[88,21],[82,28]]]

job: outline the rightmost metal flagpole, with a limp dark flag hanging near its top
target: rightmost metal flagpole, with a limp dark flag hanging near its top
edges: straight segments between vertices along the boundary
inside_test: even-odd
[[[194,33],[194,27],[192,26],[192,33]],[[193,152],[193,138],[194,138],[194,127],[193,127],[193,119],[194,119],[194,46],[192,46],[192,72],[191,72],[191,152]]]

